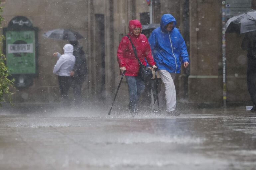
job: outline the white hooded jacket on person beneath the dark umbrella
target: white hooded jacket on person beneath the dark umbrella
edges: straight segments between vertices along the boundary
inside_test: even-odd
[[[54,66],[53,73],[58,76],[70,76],[70,72],[72,71],[75,65],[75,56],[73,56],[73,45],[66,44],[63,47],[64,54],[61,55],[58,53],[57,57],[59,60]]]

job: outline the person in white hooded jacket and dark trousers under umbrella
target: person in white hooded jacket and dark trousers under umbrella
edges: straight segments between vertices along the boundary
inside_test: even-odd
[[[58,52],[53,54],[54,56],[58,57],[58,61],[54,66],[53,73],[58,75],[62,98],[67,99],[67,92],[73,80],[70,72],[75,65],[75,56],[73,56],[73,46],[71,44],[65,44],[63,50],[63,55]]]

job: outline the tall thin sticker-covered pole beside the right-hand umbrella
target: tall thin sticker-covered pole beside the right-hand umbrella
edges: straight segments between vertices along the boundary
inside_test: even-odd
[[[222,1],[222,63],[223,63],[223,107],[226,108],[227,89],[226,89],[226,31],[224,25],[226,23],[226,1]]]

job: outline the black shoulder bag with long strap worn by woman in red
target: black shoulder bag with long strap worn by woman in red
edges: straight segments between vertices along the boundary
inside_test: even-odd
[[[126,36],[129,38],[129,40],[132,43],[132,40],[129,37],[129,35],[126,35]],[[135,46],[133,45],[133,43],[132,43],[132,49],[134,51],[135,57],[138,59],[139,64],[140,64],[139,75],[140,75],[141,79],[144,80],[144,81],[150,80],[153,77],[152,70],[150,68],[144,66],[141,63],[140,59],[138,58],[138,54],[137,54],[137,51],[136,51]]]

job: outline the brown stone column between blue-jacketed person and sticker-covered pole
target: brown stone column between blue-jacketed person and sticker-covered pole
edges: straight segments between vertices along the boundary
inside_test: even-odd
[[[190,0],[189,102],[222,103],[221,30],[221,2]]]

